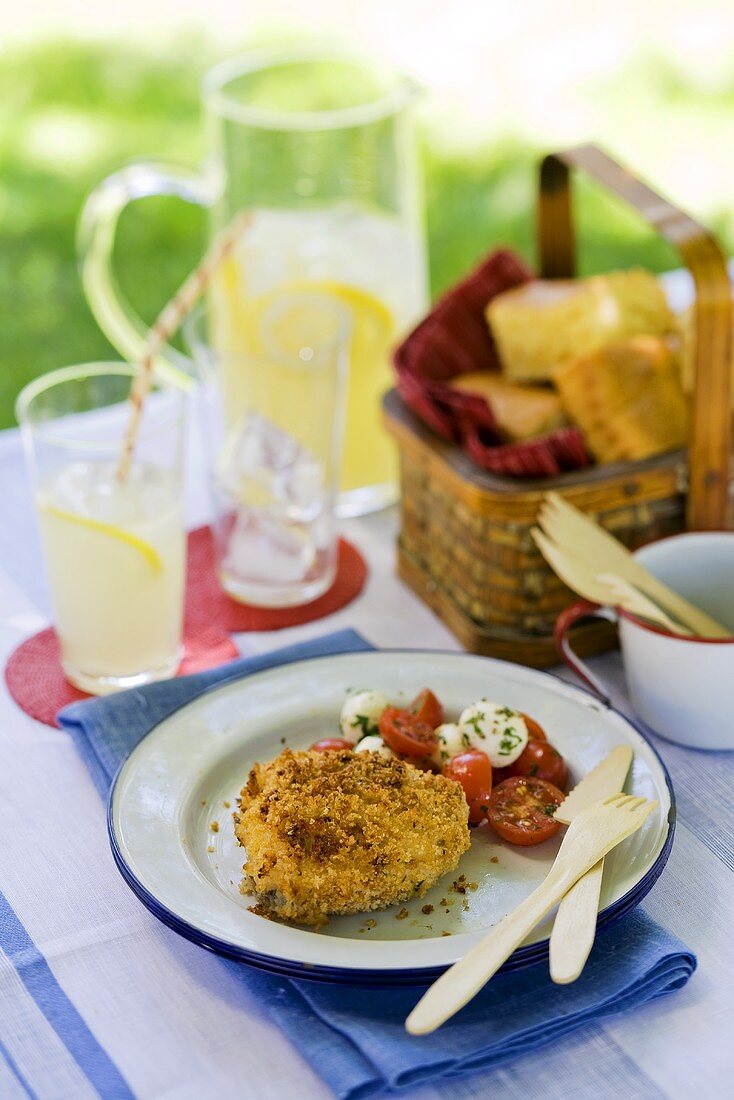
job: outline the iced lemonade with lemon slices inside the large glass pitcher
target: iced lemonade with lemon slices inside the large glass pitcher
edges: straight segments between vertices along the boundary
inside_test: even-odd
[[[364,510],[365,494],[373,507],[382,506],[395,495],[396,455],[382,425],[381,398],[393,384],[393,348],[424,305],[420,250],[396,219],[348,205],[254,211],[211,290],[211,340],[226,353],[220,384],[231,424],[245,415],[250,400],[251,384],[238,372],[237,354],[262,350],[263,318],[275,296],[288,290],[331,295],[349,310],[340,512]],[[297,419],[297,387],[283,385],[276,372],[261,384],[281,384],[284,415]]]

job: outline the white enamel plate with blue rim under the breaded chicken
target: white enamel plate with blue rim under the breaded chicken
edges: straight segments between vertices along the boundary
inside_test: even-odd
[[[295,978],[419,983],[464,955],[543,881],[559,836],[518,848],[483,824],[459,867],[413,902],[332,917],[318,932],[250,911],[254,899],[239,890],[245,854],[231,817],[250,768],[285,745],[302,749],[338,736],[344,697],[366,686],[396,705],[428,686],[449,718],[483,696],[524,711],[563,755],[572,783],[616,745],[629,745],[625,790],[658,807],[605,860],[599,928],[651,889],[672,845],[675,801],[662,761],[627,718],[545,672],[467,653],[393,650],[313,658],[211,689],[143,738],[114,780],[108,824],[122,876],[158,920],[210,950]],[[460,875],[473,888],[465,893],[453,886]],[[547,958],[551,920],[504,969]]]

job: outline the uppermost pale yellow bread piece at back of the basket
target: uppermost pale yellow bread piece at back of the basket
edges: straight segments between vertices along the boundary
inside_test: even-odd
[[[635,268],[585,279],[536,279],[486,307],[502,370],[513,382],[550,380],[557,366],[626,337],[672,330],[658,280]]]

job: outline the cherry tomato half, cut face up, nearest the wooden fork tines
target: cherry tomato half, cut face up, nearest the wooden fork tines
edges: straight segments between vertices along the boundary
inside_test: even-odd
[[[545,779],[513,776],[494,788],[486,820],[503,840],[528,847],[554,836],[560,825],[554,814],[566,795]]]

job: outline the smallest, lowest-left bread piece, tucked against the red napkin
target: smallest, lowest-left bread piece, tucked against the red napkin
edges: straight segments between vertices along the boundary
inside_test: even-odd
[[[537,439],[568,424],[560,397],[545,386],[518,386],[490,371],[460,374],[450,384],[484,397],[508,440]]]

